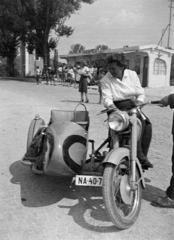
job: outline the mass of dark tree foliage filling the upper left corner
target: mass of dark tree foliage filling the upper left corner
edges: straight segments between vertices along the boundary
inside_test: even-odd
[[[5,53],[8,43],[8,47],[13,45],[14,51],[10,50],[10,53],[15,58],[15,50],[22,41],[29,53],[36,50],[37,55],[43,57],[44,65],[49,66],[50,51],[57,47],[60,37],[69,37],[73,33],[72,27],[65,25],[66,20],[81,8],[82,3],[94,1],[0,0],[1,54],[10,56]]]

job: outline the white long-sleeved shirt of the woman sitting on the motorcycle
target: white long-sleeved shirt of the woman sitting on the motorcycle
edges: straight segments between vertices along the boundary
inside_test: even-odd
[[[114,101],[130,99],[133,96],[144,102],[144,89],[140,84],[137,73],[128,69],[124,70],[122,81],[114,78],[108,72],[101,80],[103,104],[107,108]]]

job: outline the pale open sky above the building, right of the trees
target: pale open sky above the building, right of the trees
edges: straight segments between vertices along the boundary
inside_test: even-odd
[[[82,4],[66,21],[74,32],[59,40],[59,55],[68,54],[71,45],[76,43],[85,49],[99,44],[111,49],[158,44],[163,29],[169,24],[169,5],[169,0],[96,0],[93,4]],[[162,46],[166,47],[167,41],[168,30]],[[174,9],[169,46],[174,48]]]

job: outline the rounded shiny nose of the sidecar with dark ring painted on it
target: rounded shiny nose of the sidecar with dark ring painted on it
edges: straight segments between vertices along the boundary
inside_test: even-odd
[[[46,175],[73,176],[86,161],[88,132],[74,122],[52,123],[46,130]]]

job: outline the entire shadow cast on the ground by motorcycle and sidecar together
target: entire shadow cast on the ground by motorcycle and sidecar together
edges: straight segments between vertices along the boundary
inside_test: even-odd
[[[82,228],[95,232],[120,231],[107,216],[101,188],[75,186],[69,177],[35,175],[30,167],[22,165],[20,161],[10,166],[10,173],[11,182],[20,185],[21,202],[25,207],[57,203],[58,211],[69,209],[68,215]],[[150,181],[146,179],[147,182]],[[149,202],[161,195],[164,195],[164,191],[149,184],[146,184],[146,189],[143,190],[143,199]]]

